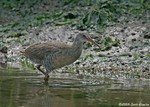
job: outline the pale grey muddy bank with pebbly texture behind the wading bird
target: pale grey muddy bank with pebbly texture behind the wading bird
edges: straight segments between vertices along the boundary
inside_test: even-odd
[[[99,75],[109,78],[149,78],[149,25],[135,23],[108,27],[103,34],[89,32],[102,48],[85,43],[83,53],[75,63],[54,72],[78,73],[81,77],[82,75]],[[18,38],[3,38],[10,43],[7,44],[8,63],[17,67],[25,66],[24,63],[26,63],[32,68],[33,64],[20,55],[20,49],[45,41],[63,41],[71,44],[78,32],[80,31],[70,26],[46,25],[26,32],[26,36],[19,37],[22,42],[17,44],[12,41]]]

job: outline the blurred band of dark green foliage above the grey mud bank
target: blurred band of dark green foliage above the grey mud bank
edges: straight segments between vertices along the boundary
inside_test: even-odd
[[[1,0],[1,32],[49,25],[71,25],[103,32],[115,23],[149,21],[149,0]],[[8,17],[9,16],[9,17]],[[8,27],[2,29],[3,27]]]

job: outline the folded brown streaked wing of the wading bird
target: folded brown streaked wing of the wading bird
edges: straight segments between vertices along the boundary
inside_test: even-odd
[[[25,55],[29,56],[32,59],[42,60],[48,54],[56,54],[57,52],[60,52],[61,50],[67,49],[69,47],[70,45],[61,42],[37,43],[28,47],[25,50]]]

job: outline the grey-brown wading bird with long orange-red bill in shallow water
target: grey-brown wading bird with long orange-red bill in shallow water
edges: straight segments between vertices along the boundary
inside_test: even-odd
[[[48,82],[49,73],[54,69],[64,67],[75,62],[81,55],[83,43],[89,41],[100,47],[87,33],[78,33],[71,45],[64,42],[35,43],[21,51],[25,57],[36,63],[36,68],[45,75]],[[45,68],[45,71],[41,69]]]

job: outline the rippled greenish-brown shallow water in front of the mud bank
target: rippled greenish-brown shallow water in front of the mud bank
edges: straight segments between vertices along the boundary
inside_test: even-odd
[[[149,107],[150,80],[51,74],[44,84],[36,72],[0,69],[0,107],[117,106]]]

